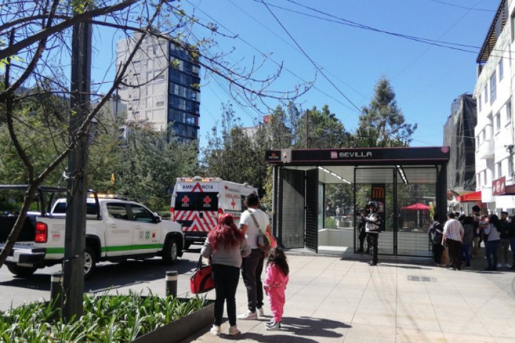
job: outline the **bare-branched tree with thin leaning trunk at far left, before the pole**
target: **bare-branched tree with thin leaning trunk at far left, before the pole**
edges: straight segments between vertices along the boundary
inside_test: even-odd
[[[68,102],[70,81],[66,78],[67,70],[61,66],[69,65],[71,59],[71,27],[81,23],[109,27],[126,36],[133,36],[134,33],[140,35],[135,38],[135,44],[130,46],[128,58],[117,65],[113,82],[108,84],[107,91],[100,94],[97,90],[87,95],[95,105],[87,110],[84,120],[70,128],[67,120],[69,117],[61,111],[43,111],[41,126],[34,128],[29,115],[31,111],[24,109],[21,104],[25,99],[44,94],[56,95]],[[159,27],[159,32],[156,27]],[[197,27],[204,29],[205,38],[195,40],[197,35],[192,30]],[[62,167],[69,152],[79,141],[89,137],[91,122],[122,83],[142,40],[147,36],[181,45],[189,51],[192,58],[198,58],[206,73],[218,75],[229,82],[231,90],[251,105],[266,97],[293,99],[299,95],[299,89],[303,92],[308,89],[274,91],[269,86],[278,78],[280,69],[260,80],[253,77],[254,66],[247,68],[248,66],[227,62],[227,54],[212,51],[216,46],[215,38],[224,36],[218,33],[216,24],[187,14],[179,1],[50,0],[4,3],[0,12],[0,37],[4,37],[0,40],[3,47],[0,50],[0,68],[5,71],[0,88],[0,125],[9,132],[8,141],[14,147],[19,163],[25,167],[20,178],[23,178],[23,183],[28,187],[20,209],[21,214],[0,253],[0,266],[5,262],[19,235],[38,186],[52,175],[60,174],[61,170],[57,172],[57,169]],[[27,91],[36,85],[41,87],[38,93]],[[68,107],[65,113],[74,115],[77,108]],[[34,135],[34,139],[26,140],[25,137],[30,135]],[[55,142],[52,151],[46,153],[45,157],[49,158],[46,163],[38,164],[38,156],[32,154],[37,141]]]

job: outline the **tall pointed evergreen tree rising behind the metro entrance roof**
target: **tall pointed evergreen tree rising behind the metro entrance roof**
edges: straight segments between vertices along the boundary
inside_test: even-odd
[[[396,94],[384,75],[376,83],[369,106],[363,106],[362,112],[353,137],[356,147],[396,147],[411,143],[417,124],[405,122]]]

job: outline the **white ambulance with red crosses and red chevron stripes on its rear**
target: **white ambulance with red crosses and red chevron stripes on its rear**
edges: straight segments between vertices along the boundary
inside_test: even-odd
[[[236,225],[240,222],[245,197],[258,189],[221,178],[177,178],[170,220],[183,226],[185,249],[192,243],[203,243],[207,233],[216,226],[218,216],[231,213]]]

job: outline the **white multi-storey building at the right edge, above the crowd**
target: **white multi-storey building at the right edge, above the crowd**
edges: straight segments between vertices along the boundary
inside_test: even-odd
[[[515,0],[501,0],[477,57],[476,187],[488,211],[514,212]]]

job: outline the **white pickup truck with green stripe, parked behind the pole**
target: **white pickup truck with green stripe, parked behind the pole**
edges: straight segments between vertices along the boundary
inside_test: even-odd
[[[34,235],[26,232],[23,235],[31,237],[31,241],[17,241],[5,261],[10,272],[30,276],[38,268],[62,262],[65,256],[65,211],[66,199],[58,199],[52,211],[32,219]],[[2,247],[0,244],[0,249]],[[164,263],[171,264],[183,255],[183,247],[181,224],[162,221],[144,205],[116,198],[87,199],[84,278],[91,276],[99,261],[161,256]]]

